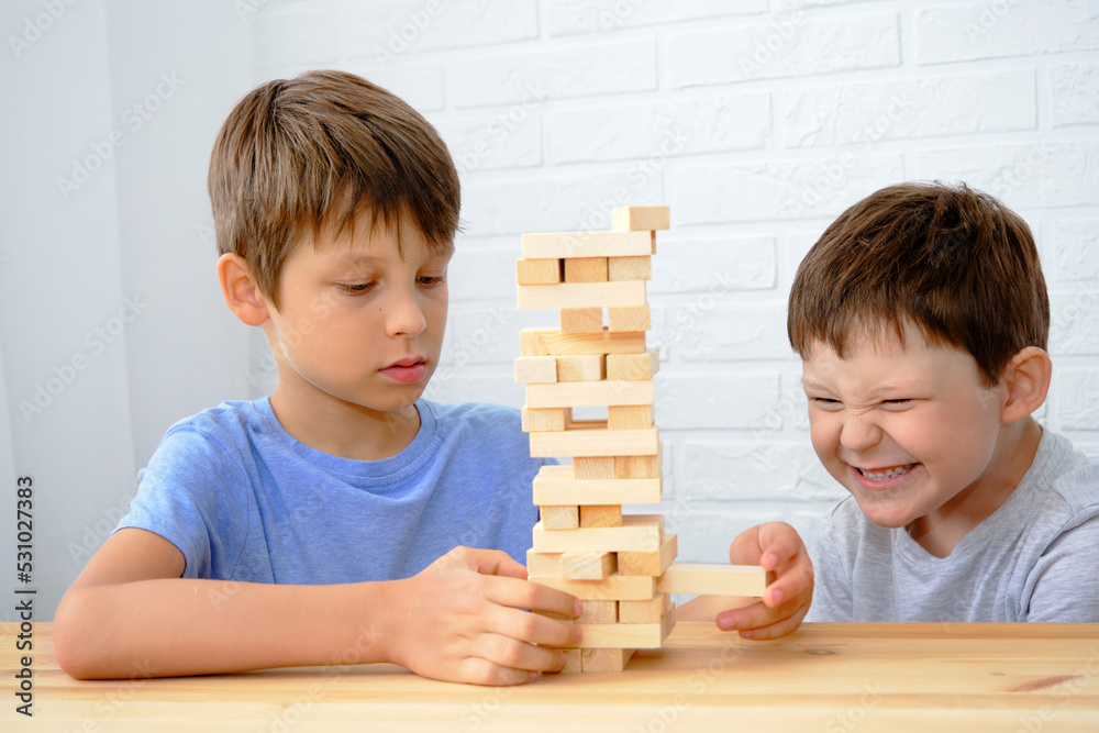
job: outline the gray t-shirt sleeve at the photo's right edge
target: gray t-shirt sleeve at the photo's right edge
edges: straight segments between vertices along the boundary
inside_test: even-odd
[[[1063,532],[1032,574],[1028,621],[1099,622],[1099,513]]]

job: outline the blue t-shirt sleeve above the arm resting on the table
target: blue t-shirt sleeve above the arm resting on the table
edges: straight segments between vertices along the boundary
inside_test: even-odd
[[[232,569],[247,536],[240,488],[244,470],[198,429],[176,425],[140,474],[137,496],[115,532],[155,532],[182,553],[185,578],[211,578]],[[234,490],[235,487],[235,490]]]

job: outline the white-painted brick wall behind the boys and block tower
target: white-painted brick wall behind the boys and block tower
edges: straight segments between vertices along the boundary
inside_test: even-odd
[[[1040,417],[1099,457],[1099,8],[991,0],[265,3],[256,80],[336,66],[439,127],[464,182],[446,364],[430,395],[522,403],[522,232],[667,203],[650,301],[669,524],[718,560],[769,519],[812,541],[843,496],[809,445],[786,342],[795,269],[870,191],[964,179],[1039,238],[1054,387]]]

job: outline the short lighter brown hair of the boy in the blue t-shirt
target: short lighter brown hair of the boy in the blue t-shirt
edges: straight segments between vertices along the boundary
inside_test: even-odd
[[[322,227],[353,231],[364,213],[371,230],[395,233],[407,219],[440,249],[458,229],[458,174],[439,133],[345,71],[246,95],[218,133],[208,185],[218,248],[244,257],[276,308],[282,263],[309,227],[315,241]]]

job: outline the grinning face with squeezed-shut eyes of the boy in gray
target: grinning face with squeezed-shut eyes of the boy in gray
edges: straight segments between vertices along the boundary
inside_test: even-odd
[[[1002,391],[974,358],[929,346],[914,326],[854,340],[803,362],[813,448],[875,524],[907,526],[992,480]]]

